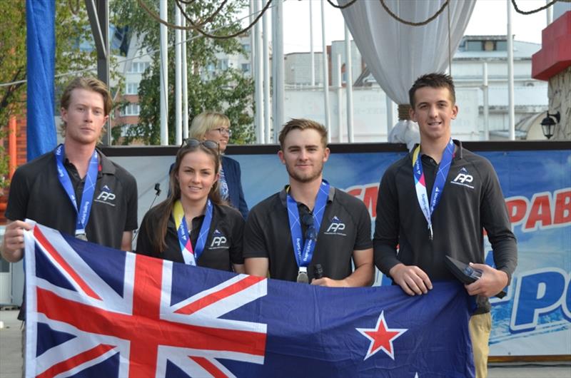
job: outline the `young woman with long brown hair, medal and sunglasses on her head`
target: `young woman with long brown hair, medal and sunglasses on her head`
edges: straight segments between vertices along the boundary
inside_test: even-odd
[[[220,166],[218,143],[186,141],[170,173],[171,195],[143,218],[137,253],[244,272],[244,220],[221,200]]]

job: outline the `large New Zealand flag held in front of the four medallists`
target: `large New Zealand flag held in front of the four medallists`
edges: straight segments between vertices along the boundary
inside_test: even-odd
[[[328,288],[26,232],[26,374],[474,377],[457,282]]]

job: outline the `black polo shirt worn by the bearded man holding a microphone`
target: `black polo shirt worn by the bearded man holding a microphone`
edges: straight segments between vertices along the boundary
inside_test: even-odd
[[[301,208],[300,213],[303,210]],[[308,266],[309,279],[313,279],[315,264],[321,264],[323,275],[333,280],[351,275],[353,250],[373,247],[370,235],[370,216],[363,201],[330,187],[313,259]],[[285,189],[251,210],[244,230],[243,255],[244,258],[267,257],[272,278],[296,280],[298,265],[291,242]]]

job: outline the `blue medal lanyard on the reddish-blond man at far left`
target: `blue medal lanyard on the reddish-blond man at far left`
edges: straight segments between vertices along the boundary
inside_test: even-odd
[[[91,204],[94,200],[97,172],[99,168],[97,150],[94,150],[94,154],[91,155],[91,160],[89,161],[89,167],[87,168],[87,175],[84,184],[84,193],[81,194],[79,210],[77,208],[74,186],[71,185],[71,178],[69,178],[69,174],[67,173],[66,168],[64,168],[64,156],[66,154],[64,145],[58,145],[54,153],[56,154],[59,182],[61,183],[61,186],[64,187],[69,200],[71,200],[71,204],[74,205],[74,209],[76,210],[76,235],[85,235],[85,228],[87,226],[87,221],[89,220],[89,214],[91,213]]]

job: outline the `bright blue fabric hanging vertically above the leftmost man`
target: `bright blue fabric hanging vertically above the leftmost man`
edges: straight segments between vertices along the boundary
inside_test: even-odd
[[[54,0],[26,0],[28,161],[56,147],[55,14]]]

